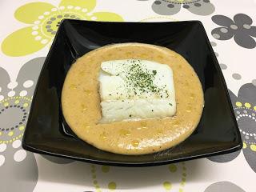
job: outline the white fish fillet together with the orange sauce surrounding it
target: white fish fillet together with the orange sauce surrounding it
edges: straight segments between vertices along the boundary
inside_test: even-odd
[[[203,103],[202,85],[185,58],[134,42],[78,58],[62,88],[62,112],[78,138],[117,154],[150,154],[184,141]]]

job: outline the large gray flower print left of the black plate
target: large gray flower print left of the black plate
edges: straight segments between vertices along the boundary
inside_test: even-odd
[[[15,82],[10,82],[6,70],[0,67],[0,191],[32,192],[38,182],[38,166],[33,153],[22,149],[22,135],[30,113],[31,96],[45,58],[26,62]],[[51,158],[50,162],[74,162]]]

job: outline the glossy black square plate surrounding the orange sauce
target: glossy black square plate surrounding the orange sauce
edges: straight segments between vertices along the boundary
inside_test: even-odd
[[[77,138],[62,117],[67,71],[83,54],[111,43],[142,42],[182,54],[198,74],[205,107],[194,134],[156,154],[128,156],[98,150]],[[22,146],[40,154],[113,166],[155,166],[241,149],[226,84],[201,22],[87,22],[64,20],[42,68]]]

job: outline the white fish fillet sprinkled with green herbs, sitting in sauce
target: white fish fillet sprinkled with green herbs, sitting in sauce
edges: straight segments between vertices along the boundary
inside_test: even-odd
[[[152,84],[148,80],[145,85],[150,82],[154,88],[150,90],[148,86],[138,86],[145,82],[138,80],[141,79],[140,73],[150,74],[145,77],[150,77],[146,79],[152,79]],[[166,118],[176,112],[173,72],[170,66],[139,59],[102,62],[98,80],[102,123]],[[134,82],[139,83],[134,85]]]

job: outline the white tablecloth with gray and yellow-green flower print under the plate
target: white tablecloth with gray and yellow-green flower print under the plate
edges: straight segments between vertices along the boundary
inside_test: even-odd
[[[200,20],[220,63],[241,151],[166,166],[98,166],[22,149],[34,86],[62,18]],[[0,191],[256,191],[256,0],[2,0]]]

